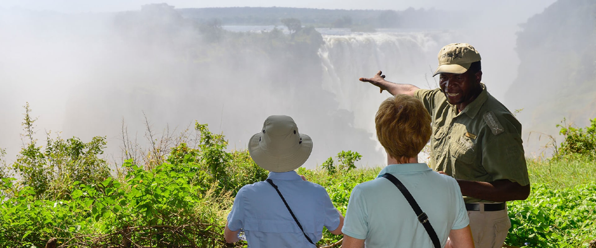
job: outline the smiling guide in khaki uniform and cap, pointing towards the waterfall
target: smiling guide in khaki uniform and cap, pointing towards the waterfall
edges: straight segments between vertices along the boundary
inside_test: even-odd
[[[437,74],[434,90],[392,83],[381,71],[360,81],[424,103],[433,125],[430,167],[460,184],[476,247],[502,247],[511,227],[505,202],[530,194],[522,125],[480,82],[480,54],[473,46],[444,46]]]

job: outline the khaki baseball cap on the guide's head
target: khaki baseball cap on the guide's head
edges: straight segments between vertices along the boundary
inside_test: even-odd
[[[480,54],[468,43],[452,43],[439,51],[439,67],[433,77],[439,73],[462,74],[468,71],[473,62],[480,61]]]

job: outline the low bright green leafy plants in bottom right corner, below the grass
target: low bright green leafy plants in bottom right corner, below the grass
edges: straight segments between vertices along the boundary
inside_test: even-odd
[[[532,190],[528,199],[508,203],[511,229],[506,244],[585,247],[589,237],[596,237],[596,183],[561,190],[533,184]]]

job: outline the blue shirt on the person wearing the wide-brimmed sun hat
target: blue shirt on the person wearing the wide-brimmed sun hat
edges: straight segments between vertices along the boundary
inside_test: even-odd
[[[337,229],[339,212],[324,187],[303,181],[296,171],[269,172],[268,178],[277,185],[315,244],[321,240],[323,226],[331,231]],[[315,247],[306,240],[280,195],[266,181],[247,184],[238,191],[228,215],[228,228],[244,229],[250,248]]]

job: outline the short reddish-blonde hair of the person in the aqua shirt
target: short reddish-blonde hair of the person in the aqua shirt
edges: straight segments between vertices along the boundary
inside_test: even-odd
[[[402,162],[417,157],[432,133],[429,111],[420,100],[408,95],[383,101],[374,122],[377,139],[387,154]]]

